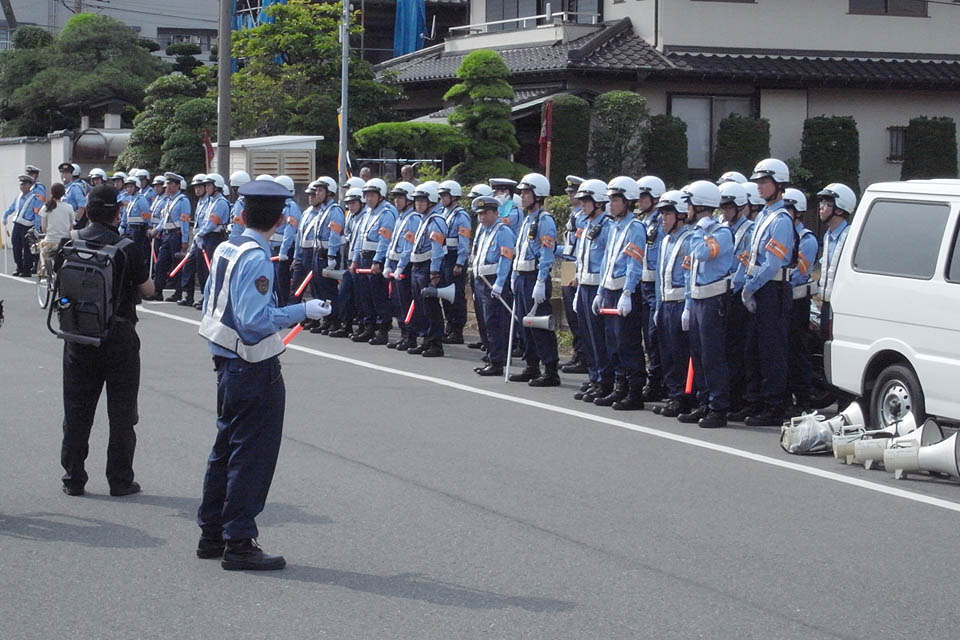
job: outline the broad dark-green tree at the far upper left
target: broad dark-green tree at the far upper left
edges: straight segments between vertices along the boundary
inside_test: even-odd
[[[108,16],[77,14],[56,38],[28,30],[0,56],[2,132],[45,135],[74,127],[84,105],[94,101],[139,105],[144,88],[167,68],[132,29]]]

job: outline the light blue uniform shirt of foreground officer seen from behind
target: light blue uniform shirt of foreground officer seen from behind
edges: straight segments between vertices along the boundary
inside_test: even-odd
[[[274,333],[307,317],[304,303],[291,304],[286,307],[277,307],[276,295],[273,290],[273,263],[270,262],[270,244],[252,229],[241,234],[245,238],[252,238],[262,251],[248,251],[243,254],[234,268],[230,279],[229,304],[233,308],[234,328],[240,339],[246,344],[256,344]],[[216,255],[216,254],[214,254]],[[211,274],[203,292],[204,312],[209,300],[213,300],[210,288],[217,280]],[[267,279],[266,293],[257,289],[257,280]],[[262,288],[262,287],[261,287]],[[237,354],[227,351],[212,342],[210,353],[224,358],[236,358]]]

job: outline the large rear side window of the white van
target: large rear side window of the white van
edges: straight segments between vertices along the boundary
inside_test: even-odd
[[[853,268],[905,278],[933,277],[950,206],[931,202],[874,202],[863,222]]]

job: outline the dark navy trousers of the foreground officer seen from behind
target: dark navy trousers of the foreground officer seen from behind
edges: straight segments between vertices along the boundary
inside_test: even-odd
[[[280,358],[246,362],[215,357],[217,438],[207,460],[197,524],[209,537],[257,537],[277,467],[286,388]]]

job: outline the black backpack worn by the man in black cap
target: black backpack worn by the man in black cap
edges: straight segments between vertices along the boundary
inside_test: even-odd
[[[99,347],[110,333],[117,312],[115,283],[123,282],[126,259],[117,280],[117,255],[133,244],[123,238],[102,245],[74,238],[60,249],[62,264],[57,272],[53,304],[47,313],[47,328],[61,340]],[[51,324],[56,309],[60,329]]]

